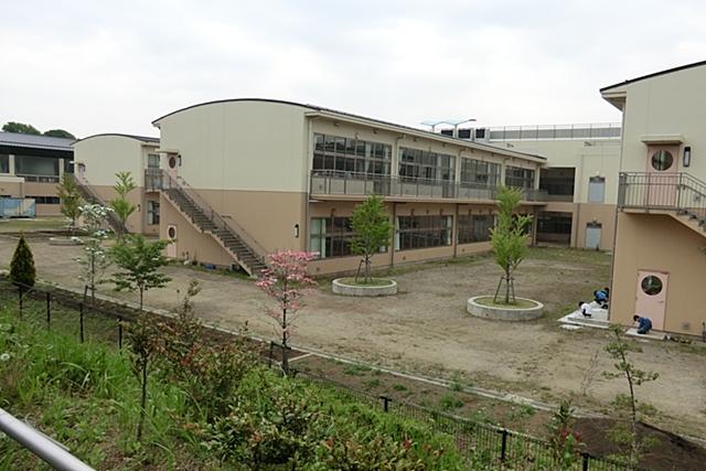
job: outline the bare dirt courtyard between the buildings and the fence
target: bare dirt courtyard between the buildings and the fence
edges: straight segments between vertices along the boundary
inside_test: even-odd
[[[74,258],[81,247],[50,246],[31,238],[39,277],[61,286],[81,288]],[[8,267],[17,239],[0,237],[0,265]],[[176,290],[190,279],[202,286],[195,299],[197,314],[210,323],[238,329],[246,322],[261,336],[275,336],[271,307],[252,280],[204,272],[179,266],[164,271],[173,278],[162,290],[148,291],[148,306],[170,309]],[[451,263],[400,268],[393,275],[399,295],[355,299],[331,293],[329,280],[307,298],[292,340],[310,347],[378,366],[432,377],[454,377],[469,386],[515,393],[537,400],[556,402],[573,396],[577,406],[605,410],[624,382],[601,377],[612,368],[603,346],[608,333],[598,330],[566,331],[555,319],[589,299],[608,283],[610,256],[596,251],[558,248],[533,249],[516,277],[517,296],[545,303],[544,319],[502,323],[470,317],[466,300],[494,292],[500,270],[492,258],[478,256]],[[100,291],[122,299],[104,285]],[[706,347],[642,341],[634,354],[638,367],[660,373],[656,382],[638,390],[659,410],[660,425],[673,431],[706,438]],[[589,368],[598,352],[598,362]],[[591,370],[588,374],[587,371]],[[586,377],[592,377],[586,381]],[[582,386],[584,385],[584,386]],[[588,389],[588,394],[580,392]]]

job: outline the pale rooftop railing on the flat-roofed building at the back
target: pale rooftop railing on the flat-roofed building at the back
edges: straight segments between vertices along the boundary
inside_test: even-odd
[[[620,122],[586,125],[500,126],[490,128],[490,140],[539,139],[617,139],[622,136]]]

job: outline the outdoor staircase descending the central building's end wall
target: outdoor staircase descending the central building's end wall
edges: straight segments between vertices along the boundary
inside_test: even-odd
[[[267,268],[265,257],[260,255],[266,253],[265,249],[235,221],[215,212],[183,179],[176,181],[162,172],[158,184],[174,207],[200,232],[210,234],[248,275],[257,277]]]

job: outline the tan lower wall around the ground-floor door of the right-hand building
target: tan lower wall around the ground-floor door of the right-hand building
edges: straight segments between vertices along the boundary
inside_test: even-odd
[[[706,238],[670,215],[618,215],[610,319],[632,324],[638,270],[668,274],[665,330],[700,335]]]

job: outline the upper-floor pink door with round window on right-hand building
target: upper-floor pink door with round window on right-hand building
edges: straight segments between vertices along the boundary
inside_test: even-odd
[[[678,182],[678,146],[650,146],[648,148],[646,205],[674,207]]]

